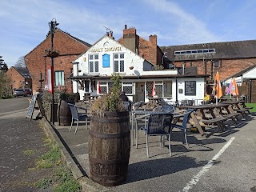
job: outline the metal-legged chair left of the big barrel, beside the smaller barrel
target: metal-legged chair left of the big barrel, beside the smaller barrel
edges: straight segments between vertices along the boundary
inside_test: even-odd
[[[71,122],[70,130],[72,129],[74,121],[77,121],[77,126],[76,126],[76,129],[74,131],[74,134],[76,134],[77,131],[78,131],[79,121],[86,121],[86,128],[88,130],[88,118],[89,117],[87,115],[87,109],[82,107],[82,106],[75,106],[75,105],[70,104],[70,103],[68,103],[68,105],[70,106],[71,115],[72,115],[72,122]],[[85,110],[86,113],[78,113],[78,109]]]

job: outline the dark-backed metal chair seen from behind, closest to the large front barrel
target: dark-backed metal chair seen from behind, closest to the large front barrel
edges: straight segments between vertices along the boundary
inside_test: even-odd
[[[142,126],[141,129],[145,131],[146,134],[146,154],[147,157],[150,157],[149,154],[149,136],[160,136],[160,146],[164,146],[164,139],[162,136],[169,136],[169,152],[171,156],[170,148],[170,134],[171,134],[171,121],[173,119],[173,114],[171,113],[152,113],[146,114],[139,118],[147,118],[145,126]],[[138,137],[136,138],[136,147],[138,146]]]

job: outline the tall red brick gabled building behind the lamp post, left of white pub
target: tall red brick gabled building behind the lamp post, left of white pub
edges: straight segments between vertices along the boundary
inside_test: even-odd
[[[54,87],[66,86],[68,91],[72,91],[72,81],[69,78],[73,72],[71,62],[88,50],[91,45],[58,28],[54,33],[53,42],[54,50],[59,51],[59,56],[54,58]],[[46,69],[51,66],[51,58],[46,56],[46,50],[50,48],[51,37],[48,35],[25,56],[26,66],[33,80],[33,93],[38,88],[44,89],[45,87]]]

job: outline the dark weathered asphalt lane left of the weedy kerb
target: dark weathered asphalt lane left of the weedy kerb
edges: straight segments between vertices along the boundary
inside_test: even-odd
[[[34,182],[48,170],[35,170],[36,159],[46,152],[46,137],[38,121],[25,119],[27,98],[0,100],[0,191],[38,191]],[[41,190],[39,190],[41,191]]]

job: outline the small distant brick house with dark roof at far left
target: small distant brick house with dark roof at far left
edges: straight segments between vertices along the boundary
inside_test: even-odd
[[[10,69],[6,71],[6,75],[10,78],[12,90],[18,88],[32,88],[32,79],[27,68],[11,66]]]

